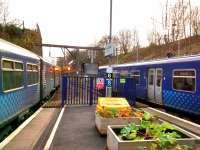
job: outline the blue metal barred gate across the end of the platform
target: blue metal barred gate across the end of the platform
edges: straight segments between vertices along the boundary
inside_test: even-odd
[[[66,105],[93,105],[104,96],[96,89],[97,77],[62,76],[62,107]]]

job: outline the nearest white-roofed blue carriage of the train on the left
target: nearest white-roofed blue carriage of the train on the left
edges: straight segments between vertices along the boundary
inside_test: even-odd
[[[40,100],[40,59],[0,39],[0,125]]]

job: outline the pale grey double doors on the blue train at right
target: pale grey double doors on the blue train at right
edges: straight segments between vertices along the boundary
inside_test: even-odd
[[[162,104],[162,69],[148,70],[148,99],[154,103]]]

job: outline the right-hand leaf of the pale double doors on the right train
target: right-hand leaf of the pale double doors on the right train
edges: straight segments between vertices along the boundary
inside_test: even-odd
[[[155,100],[158,104],[162,104],[162,76],[162,69],[157,68],[155,76]]]

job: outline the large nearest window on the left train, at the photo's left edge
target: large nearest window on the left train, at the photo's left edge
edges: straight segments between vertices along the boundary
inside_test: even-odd
[[[23,86],[23,63],[3,60],[3,91],[15,90]]]

